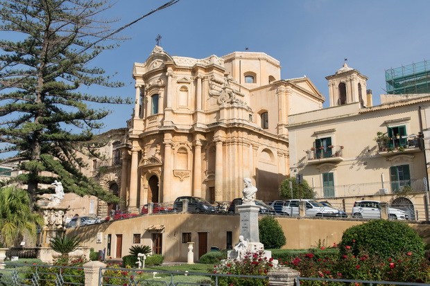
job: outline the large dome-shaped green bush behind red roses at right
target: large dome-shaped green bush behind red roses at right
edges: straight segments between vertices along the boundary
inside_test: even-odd
[[[369,256],[396,258],[398,253],[411,252],[416,257],[424,256],[424,243],[420,236],[404,222],[394,220],[372,220],[347,229],[339,244],[341,255],[351,249],[359,256],[363,249]]]

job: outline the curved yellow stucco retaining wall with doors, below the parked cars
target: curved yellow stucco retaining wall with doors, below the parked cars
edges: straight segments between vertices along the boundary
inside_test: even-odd
[[[299,218],[277,216],[279,224],[286,236],[285,249],[305,249],[318,245],[318,242],[331,246],[341,241],[343,231],[356,224],[365,222],[350,219]],[[162,231],[148,231],[149,226],[164,226]],[[417,231],[424,242],[430,243],[430,224],[413,223],[410,225]],[[216,246],[225,249],[227,246],[227,231],[232,232],[232,244],[239,237],[239,215],[218,214],[156,214],[104,222],[92,226],[81,226],[69,229],[68,235],[78,235],[83,240],[83,246],[94,247],[94,250],[107,249],[107,235],[112,235],[110,257],[117,258],[117,236],[122,234],[121,256],[128,255],[128,249],[133,244],[133,234],[141,235],[141,244],[152,247],[152,234],[162,233],[162,254],[166,261],[187,261],[188,245],[182,243],[182,233],[191,233],[194,242],[194,260],[198,260],[198,233],[207,233],[207,251]],[[97,233],[101,233],[102,241],[97,243]]]

